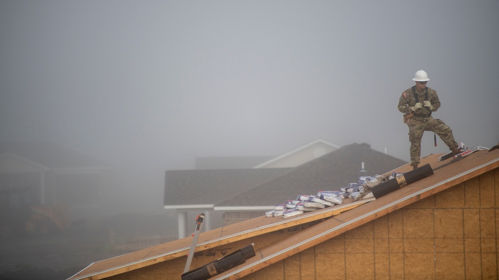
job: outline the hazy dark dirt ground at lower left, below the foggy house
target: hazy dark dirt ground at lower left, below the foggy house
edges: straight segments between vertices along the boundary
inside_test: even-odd
[[[175,231],[161,218],[127,214],[65,233],[2,238],[0,279],[68,279],[91,263],[173,240]]]

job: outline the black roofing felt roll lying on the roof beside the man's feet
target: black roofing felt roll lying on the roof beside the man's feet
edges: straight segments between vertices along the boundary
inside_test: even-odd
[[[396,191],[401,187],[405,187],[431,175],[433,175],[433,169],[432,166],[430,166],[430,163],[427,163],[419,168],[383,182],[375,186],[371,191],[375,198],[382,197],[385,194]]]

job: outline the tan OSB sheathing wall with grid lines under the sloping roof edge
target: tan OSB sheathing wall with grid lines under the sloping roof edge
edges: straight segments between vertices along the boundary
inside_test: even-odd
[[[242,279],[498,279],[498,182],[496,168]]]

